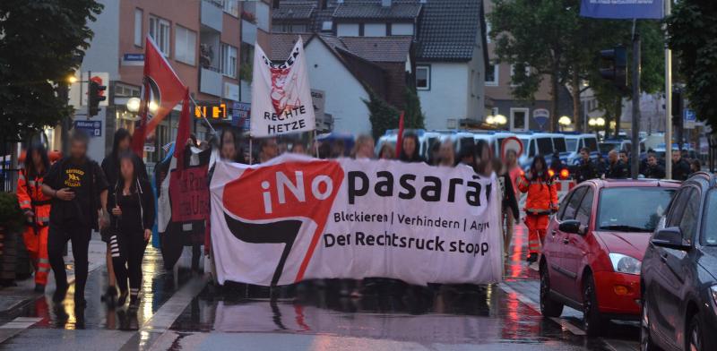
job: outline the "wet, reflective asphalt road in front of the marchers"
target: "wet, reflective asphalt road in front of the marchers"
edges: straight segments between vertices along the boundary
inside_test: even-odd
[[[505,283],[487,287],[409,287],[367,281],[313,281],[268,289],[217,289],[206,278],[162,268],[148,250],[143,302],[136,312],[109,308],[99,296],[104,268],[91,272],[88,306],[63,304],[48,294],[0,319],[0,350],[632,350],[639,330],[613,323],[609,338],[587,338],[579,312],[546,320],[538,312],[538,274],[522,260],[527,244],[518,227],[506,260]],[[183,258],[185,262],[188,258]]]

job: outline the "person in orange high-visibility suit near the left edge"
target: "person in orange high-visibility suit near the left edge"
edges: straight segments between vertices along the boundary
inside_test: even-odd
[[[23,238],[35,268],[35,291],[42,293],[48,284],[48,225],[50,198],[42,193],[42,179],[50,167],[48,152],[42,145],[30,145],[24,167],[17,180],[17,198],[25,213]]]

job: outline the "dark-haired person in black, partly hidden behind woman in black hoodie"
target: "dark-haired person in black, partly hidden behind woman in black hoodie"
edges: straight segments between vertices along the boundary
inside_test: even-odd
[[[119,156],[130,150],[132,145],[132,134],[130,134],[125,128],[117,129],[115,132],[115,139],[112,144],[112,151],[108,157],[102,160],[102,171],[105,172],[108,184],[113,186],[117,184],[117,175],[119,175]],[[144,166],[142,158],[139,158],[134,153],[131,154],[134,162],[134,169],[137,170],[137,176],[142,179],[149,179],[147,175],[147,167]],[[108,201],[112,201],[111,197],[114,195],[113,192],[108,193]],[[108,287],[105,295],[102,295],[102,300],[108,303],[114,303],[115,297],[117,297],[117,287],[115,287],[115,270],[112,267],[112,247],[110,246],[110,238],[113,234],[115,223],[114,218],[110,216],[109,226],[105,227],[101,232],[102,241],[107,243],[107,272],[108,272]]]

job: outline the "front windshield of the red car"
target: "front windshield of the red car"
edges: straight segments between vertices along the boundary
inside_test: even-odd
[[[674,189],[607,188],[600,191],[597,230],[652,232],[672,200]]]

